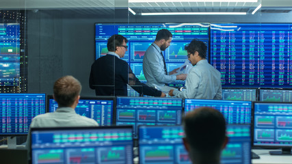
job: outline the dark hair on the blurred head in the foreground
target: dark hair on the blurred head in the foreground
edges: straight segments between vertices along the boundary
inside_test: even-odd
[[[196,152],[215,154],[226,137],[226,121],[220,111],[211,107],[194,109],[183,118],[187,142]]]

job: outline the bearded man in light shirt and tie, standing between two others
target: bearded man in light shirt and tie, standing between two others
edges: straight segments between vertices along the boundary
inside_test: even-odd
[[[176,80],[185,80],[187,74],[178,74],[178,68],[168,72],[165,65],[165,59],[161,51],[170,46],[172,42],[172,33],[168,29],[161,29],[157,32],[155,42],[147,49],[143,58],[143,72],[147,80],[147,85],[150,87],[163,87],[165,83],[172,83]],[[154,85],[153,85],[154,84]]]

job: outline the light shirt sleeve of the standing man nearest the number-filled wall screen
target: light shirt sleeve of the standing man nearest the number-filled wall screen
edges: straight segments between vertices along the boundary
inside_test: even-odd
[[[194,98],[198,92],[198,86],[200,84],[200,75],[196,72],[189,72],[185,81],[187,90],[178,91],[174,90],[173,94],[179,98]]]

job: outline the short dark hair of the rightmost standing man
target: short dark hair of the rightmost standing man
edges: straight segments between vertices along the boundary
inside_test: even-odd
[[[207,46],[200,40],[191,40],[189,44],[185,45],[185,50],[191,54],[194,54],[196,51],[198,51],[199,56],[202,57],[202,59],[206,59]]]

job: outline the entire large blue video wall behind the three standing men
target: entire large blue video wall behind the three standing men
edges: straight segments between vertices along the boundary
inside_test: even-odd
[[[96,59],[107,53],[107,39],[111,35],[125,36],[129,49],[123,59],[138,79],[146,82],[142,61],[159,29],[168,29],[173,35],[170,46],[163,52],[168,71],[187,60],[185,44],[196,38],[207,44],[209,63],[221,72],[222,87],[292,86],[290,24],[96,23]],[[171,86],[184,83],[176,81]]]

